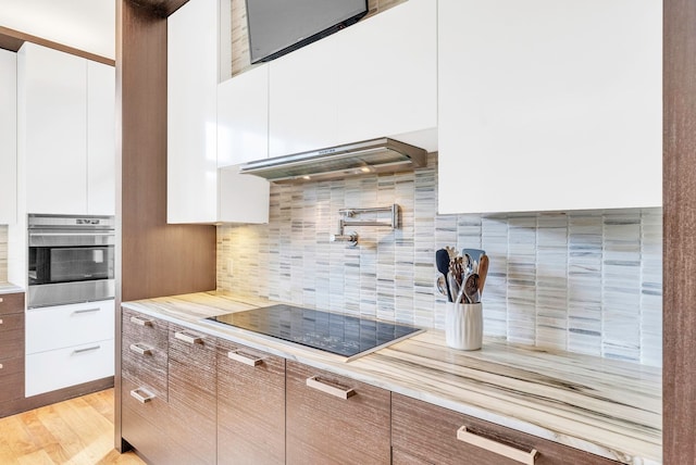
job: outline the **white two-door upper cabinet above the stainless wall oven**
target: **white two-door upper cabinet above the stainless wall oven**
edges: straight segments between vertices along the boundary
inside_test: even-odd
[[[17,54],[22,214],[115,213],[113,66],[26,42]]]

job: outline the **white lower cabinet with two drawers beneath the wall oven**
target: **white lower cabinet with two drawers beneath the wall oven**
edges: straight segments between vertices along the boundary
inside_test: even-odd
[[[26,395],[114,374],[114,301],[26,311]]]

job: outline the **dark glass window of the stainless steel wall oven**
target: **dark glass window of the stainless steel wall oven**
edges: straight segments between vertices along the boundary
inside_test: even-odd
[[[113,246],[29,247],[29,285],[113,279]]]

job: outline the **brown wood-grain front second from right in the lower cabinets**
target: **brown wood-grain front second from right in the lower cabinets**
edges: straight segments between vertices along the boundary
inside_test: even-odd
[[[388,464],[389,399],[387,390],[286,362],[287,463]]]

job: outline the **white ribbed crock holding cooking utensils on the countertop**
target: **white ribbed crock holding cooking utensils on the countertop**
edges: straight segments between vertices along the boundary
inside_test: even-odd
[[[459,350],[478,350],[483,341],[481,303],[448,302],[445,310],[447,345]]]

